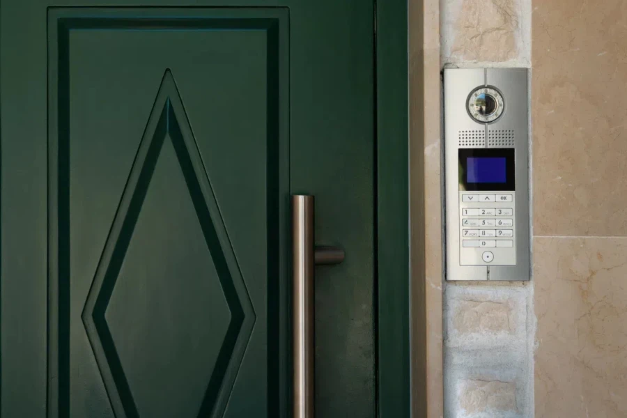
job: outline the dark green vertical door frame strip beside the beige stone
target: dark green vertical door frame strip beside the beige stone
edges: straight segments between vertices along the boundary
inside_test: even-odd
[[[377,412],[409,418],[408,2],[375,0]]]

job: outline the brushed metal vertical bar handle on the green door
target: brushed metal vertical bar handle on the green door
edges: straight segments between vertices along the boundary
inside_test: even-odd
[[[314,247],[314,196],[292,196],[293,417],[314,418],[314,265],[344,260],[337,247]]]

